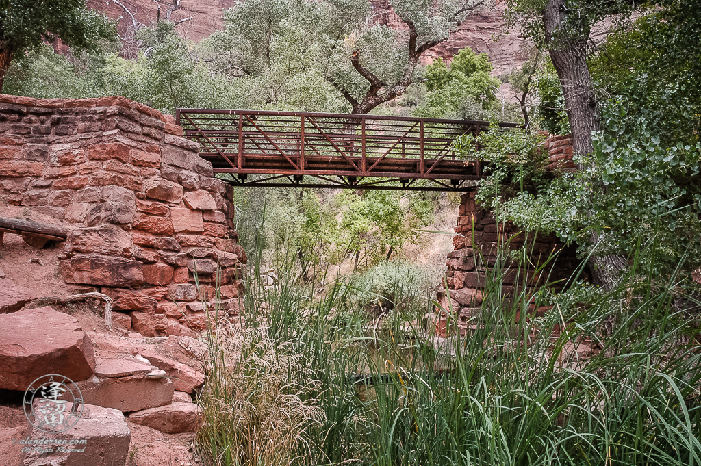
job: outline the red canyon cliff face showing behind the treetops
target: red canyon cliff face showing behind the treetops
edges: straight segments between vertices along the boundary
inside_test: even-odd
[[[138,22],[149,25],[156,21],[158,8],[155,1],[122,0],[120,3],[129,9]],[[170,19],[177,22],[184,18],[192,18],[177,25],[176,29],[185,39],[200,41],[222,27],[224,10],[231,8],[233,4],[236,4],[236,0],[182,0],[179,8],[171,13]],[[372,4],[379,13],[378,21],[381,24],[397,29],[406,28],[391,10],[387,0],[372,0]],[[162,3],[161,18],[165,18],[168,5]],[[122,18],[119,20],[120,32],[125,34],[128,31],[132,19],[112,0],[88,0],[88,6],[106,13],[110,18]],[[506,22],[503,17],[505,9],[506,2],[497,0],[492,8],[484,8],[470,15],[461,27],[450,34],[447,41],[426,53],[423,64],[430,64],[435,57],[450,59],[462,48],[470,47],[476,52],[489,55],[494,63],[495,76],[519,67],[526,60],[522,50],[525,41],[519,38],[515,31],[506,34]]]

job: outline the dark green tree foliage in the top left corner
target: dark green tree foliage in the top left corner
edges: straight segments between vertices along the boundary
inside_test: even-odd
[[[0,4],[0,90],[16,57],[60,39],[77,50],[96,51],[114,39],[114,24],[82,0],[4,0]]]

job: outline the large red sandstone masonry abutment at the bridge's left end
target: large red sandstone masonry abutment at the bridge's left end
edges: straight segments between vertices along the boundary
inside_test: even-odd
[[[144,336],[203,329],[217,275],[222,310],[238,312],[246,258],[198,148],[123,97],[0,95],[0,215],[67,226],[62,279],[111,296],[116,322]]]

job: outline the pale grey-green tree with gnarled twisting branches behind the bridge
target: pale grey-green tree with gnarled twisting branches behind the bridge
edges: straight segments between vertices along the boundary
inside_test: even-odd
[[[245,0],[213,37],[219,69],[266,83],[266,102],[284,100],[294,79],[352,113],[400,97],[416,80],[423,53],[448,38],[486,0],[390,1],[406,31],[372,19],[367,0]],[[341,99],[339,101],[339,99]]]

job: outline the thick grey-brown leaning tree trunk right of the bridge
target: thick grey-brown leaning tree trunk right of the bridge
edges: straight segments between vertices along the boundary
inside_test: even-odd
[[[574,27],[568,21],[565,0],[549,0],[543,10],[545,42],[550,59],[562,85],[565,110],[572,133],[573,151],[591,153],[592,132],[601,129],[597,112],[597,100],[592,90],[592,76],[587,67],[587,40],[589,25],[578,25],[584,33],[570,34]],[[578,169],[583,167],[578,166]],[[604,187],[599,189],[603,191]],[[592,242],[599,245],[602,236],[592,233]],[[594,256],[590,261],[592,279],[597,285],[611,289],[627,261],[619,255]]]

